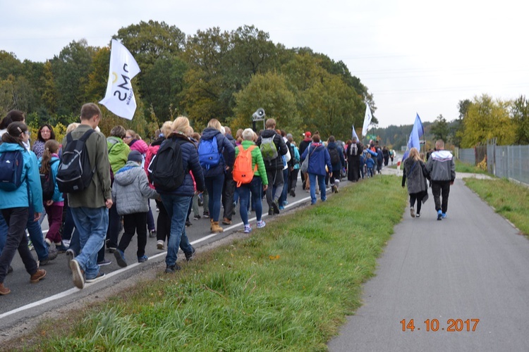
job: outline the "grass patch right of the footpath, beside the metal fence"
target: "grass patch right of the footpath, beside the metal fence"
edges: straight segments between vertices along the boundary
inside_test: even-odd
[[[526,236],[529,234],[529,188],[506,179],[477,180],[466,178],[466,185],[512,222]]]

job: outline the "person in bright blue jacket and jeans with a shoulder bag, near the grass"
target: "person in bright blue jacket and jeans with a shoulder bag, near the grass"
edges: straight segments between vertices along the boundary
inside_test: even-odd
[[[310,180],[310,203],[316,203],[316,179],[320,185],[322,201],[326,201],[325,175],[329,170],[330,176],[332,176],[332,165],[329,151],[320,143],[320,134],[312,136],[312,143],[305,149],[300,161],[303,163],[305,158],[309,158],[307,173]],[[325,170],[326,166],[327,170]]]

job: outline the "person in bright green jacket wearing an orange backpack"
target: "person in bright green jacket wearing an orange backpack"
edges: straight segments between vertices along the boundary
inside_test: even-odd
[[[252,231],[250,222],[248,222],[248,204],[250,203],[250,194],[252,194],[253,208],[255,208],[255,216],[257,217],[257,228],[265,227],[265,222],[261,219],[262,217],[262,203],[261,196],[262,192],[268,188],[267,170],[265,169],[265,163],[262,160],[262,154],[258,146],[255,146],[253,142],[254,132],[251,128],[247,128],[243,131],[243,142],[241,146],[235,149],[235,157],[242,151],[253,147],[252,153],[252,170],[255,170],[253,179],[250,183],[243,183],[238,185],[237,191],[241,202],[241,219],[244,222],[244,232],[249,233]],[[255,166],[257,165],[257,170]],[[234,179],[235,180],[235,177]]]

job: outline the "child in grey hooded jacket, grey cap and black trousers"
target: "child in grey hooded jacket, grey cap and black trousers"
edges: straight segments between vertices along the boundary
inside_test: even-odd
[[[139,151],[130,151],[127,163],[114,175],[112,200],[116,203],[118,215],[123,215],[123,235],[114,256],[118,265],[127,266],[125,251],[135,233],[138,233],[138,263],[149,258],[145,255],[147,245],[147,212],[149,199],[157,199],[157,191],[149,187],[147,174],[141,167],[142,155]]]

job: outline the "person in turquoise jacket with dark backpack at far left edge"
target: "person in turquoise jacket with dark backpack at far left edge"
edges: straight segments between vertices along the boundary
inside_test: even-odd
[[[46,270],[39,269],[37,261],[33,258],[28,248],[28,237],[25,235],[25,225],[28,217],[38,221],[42,213],[42,187],[40,185],[39,169],[37,167],[37,156],[32,151],[25,149],[30,133],[23,122],[11,122],[7,132],[2,135],[0,154],[8,151],[20,151],[23,155],[23,170],[20,187],[14,191],[0,189],[0,209],[6,219],[8,232],[6,244],[0,254],[0,294],[11,292],[4,286],[4,280],[9,265],[18,251],[25,265],[25,270],[31,275],[30,282],[37,283],[46,276]],[[0,165],[0,168],[5,165]],[[35,209],[34,214],[29,214],[30,201]]]

